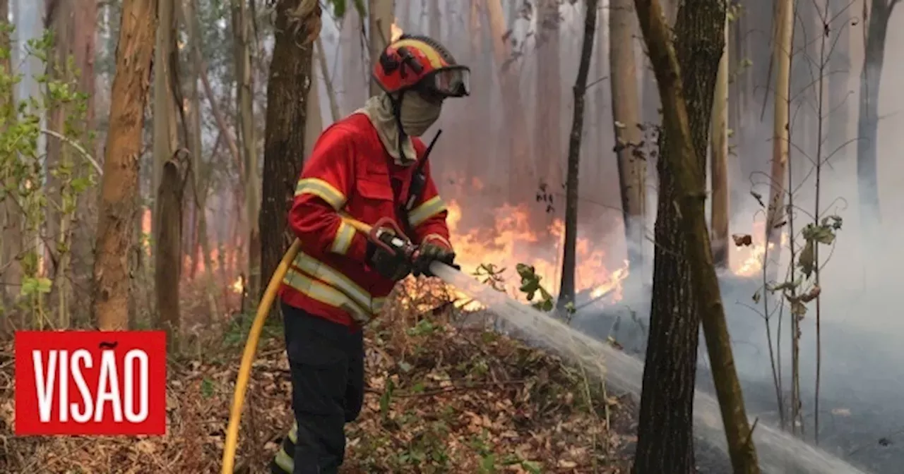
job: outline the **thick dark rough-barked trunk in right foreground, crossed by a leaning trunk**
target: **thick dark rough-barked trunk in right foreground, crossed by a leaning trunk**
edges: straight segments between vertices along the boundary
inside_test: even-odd
[[[637,0],[636,7],[647,38],[647,50],[651,60],[656,60],[653,50],[662,46],[650,43],[648,37],[650,15],[653,14],[650,4]],[[697,192],[698,188],[688,189],[686,182],[683,183],[685,188],[679,188],[675,175],[679,172],[677,166],[685,166],[695,176],[706,176],[712,99],[725,39],[724,28],[725,7],[720,0],[683,4],[674,27],[675,54],[683,65],[683,77],[676,81],[681,80],[685,85],[683,99],[687,100],[689,120],[685,126],[690,133],[686,139],[692,148],[683,149],[685,138],[677,135],[673,128],[666,128],[659,136],[653,302],[640,402],[637,474],[689,474],[694,471],[693,392],[702,306],[701,295],[697,294],[700,290],[690,283],[692,265],[697,262],[690,258],[692,248],[688,236],[682,232],[683,213],[675,206],[683,203],[680,200],[684,193]],[[656,74],[662,96],[663,79],[659,77],[660,72]],[[692,163],[682,163],[682,153],[689,153]],[[705,192],[705,181],[699,192]],[[700,197],[703,196],[705,194]],[[701,199],[699,206],[694,203],[683,212],[696,213],[698,209],[702,212],[702,202]],[[711,259],[710,255],[706,261],[711,262]]]

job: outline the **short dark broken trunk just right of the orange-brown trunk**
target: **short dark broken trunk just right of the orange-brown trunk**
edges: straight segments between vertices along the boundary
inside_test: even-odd
[[[155,327],[166,331],[167,349],[179,348],[179,286],[182,274],[182,198],[184,165],[175,160],[164,164],[157,189],[157,219],[154,239],[154,287],[158,320]]]

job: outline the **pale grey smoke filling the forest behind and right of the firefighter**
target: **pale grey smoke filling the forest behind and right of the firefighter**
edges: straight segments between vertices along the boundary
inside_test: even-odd
[[[400,3],[406,5],[406,3]],[[521,98],[524,102],[524,114],[528,116],[528,130],[534,130],[533,121],[543,110],[544,91],[536,86],[536,73],[542,66],[537,51],[533,48],[536,20],[521,18],[513,21],[509,16],[517,16],[518,12],[508,8],[504,3],[505,19],[508,28],[512,28],[511,41],[515,45],[517,58],[507,67],[518,68],[521,78]],[[562,5],[563,23],[560,26],[560,87],[562,107],[560,127],[562,136],[570,131],[571,86],[577,70],[578,60],[575,45],[579,44],[580,22],[582,21],[581,3]],[[764,12],[771,11],[768,4],[760,5]],[[503,204],[522,204],[510,202],[510,163],[511,127],[504,118],[504,103],[498,80],[500,65],[493,59],[490,47],[489,23],[482,17],[479,31],[474,36],[481,48],[472,48],[470,30],[470,13],[466,8],[457,6],[454,11],[445,12],[447,21],[442,22],[442,32],[428,31],[429,11],[422,11],[419,2],[411,2],[408,12],[397,12],[402,19],[402,26],[410,33],[431,33],[444,42],[447,48],[461,62],[472,69],[471,98],[447,101],[442,116],[434,128],[443,128],[443,139],[439,141],[431,166],[434,178],[438,181],[444,197],[457,200],[464,215],[462,222],[469,226],[493,228],[494,209]],[[822,7],[820,5],[820,7]],[[429,9],[428,9],[429,10]],[[859,8],[853,14],[859,14]],[[853,11],[852,10],[852,11]],[[603,9],[606,12],[606,8]],[[513,15],[514,14],[514,15]],[[746,12],[749,14],[747,27],[757,29],[758,33],[740,36],[756,38],[751,41],[746,54],[756,57],[748,72],[738,72],[736,80],[730,86],[732,97],[737,97],[735,88],[743,87],[752,90],[750,104],[743,113],[732,112],[730,122],[733,135],[733,156],[730,158],[730,232],[734,234],[750,234],[755,242],[761,242],[762,223],[765,221],[764,209],[751,195],[751,191],[766,199],[768,195],[769,162],[772,156],[772,123],[773,106],[767,101],[765,116],[761,118],[762,100],[768,98],[767,64],[768,48],[768,14]],[[766,18],[764,25],[762,18]],[[351,23],[350,19],[346,19]],[[830,78],[839,75],[846,77],[846,82],[834,82],[832,94],[826,94],[824,105],[824,144],[822,157],[824,165],[821,174],[820,212],[823,216],[837,215],[843,218],[843,228],[838,232],[833,246],[822,246],[820,250],[821,287],[823,289],[820,308],[822,331],[821,387],[820,387],[820,429],[821,444],[830,451],[837,451],[843,457],[862,463],[874,472],[899,472],[904,462],[904,449],[897,446],[904,444],[904,413],[898,408],[897,399],[904,389],[904,368],[899,367],[898,360],[904,358],[904,345],[899,344],[900,334],[904,334],[904,317],[900,315],[899,304],[899,269],[904,267],[904,253],[899,249],[895,236],[904,235],[904,223],[896,218],[898,209],[904,207],[904,191],[900,190],[900,176],[904,175],[904,161],[898,160],[897,152],[904,147],[904,94],[899,93],[896,80],[904,74],[904,62],[895,60],[899,54],[891,47],[886,52],[884,70],[881,76],[879,104],[879,186],[880,205],[883,222],[878,235],[864,236],[860,223],[860,211],[857,205],[858,185],[856,182],[856,142],[857,113],[859,98],[860,71],[863,63],[862,28],[867,22],[851,22],[846,26],[843,18],[835,19],[830,28],[830,36],[834,38],[847,28],[844,42],[835,43],[833,54],[846,55],[849,65],[832,66]],[[895,28],[901,20],[892,18],[887,44],[895,45],[904,41],[904,32]],[[325,22],[325,46],[327,56],[340,60],[331,61],[331,68],[343,115],[360,106],[353,95],[355,90],[364,90],[366,75],[360,72],[362,61],[359,38],[354,31],[354,24],[347,24],[342,29],[342,43],[336,45],[334,38],[339,36],[339,29],[329,27]],[[743,23],[743,22],[742,22]],[[796,41],[809,38],[814,41],[814,22],[798,22],[797,28],[809,28],[807,34],[796,34]],[[605,33],[607,22],[605,16],[600,17],[600,30]],[[846,44],[845,44],[846,42]],[[626,258],[627,248],[624,242],[624,227],[621,216],[621,205],[617,182],[617,166],[613,148],[613,123],[609,103],[609,75],[607,64],[608,42],[605,34],[601,34],[596,43],[598,51],[594,52],[591,63],[591,80],[589,89],[589,109],[583,135],[583,150],[580,165],[579,188],[579,232],[581,237],[592,238],[598,246],[606,250],[607,268],[616,268]],[[643,51],[639,38],[636,50]],[[765,51],[765,55],[763,55]],[[638,53],[640,56],[641,53]],[[740,62],[738,58],[733,59]],[[796,56],[798,65],[794,70],[797,90],[813,88],[812,79],[814,61],[810,57],[805,62],[803,56]],[[809,64],[809,65],[807,65]],[[357,66],[353,66],[357,65]],[[638,86],[645,91],[645,67],[638,64]],[[843,71],[847,71],[844,76]],[[340,84],[342,82],[342,84]],[[774,84],[773,84],[774,85]],[[648,87],[647,87],[648,89]],[[322,104],[328,103],[325,88],[320,88]],[[815,119],[815,98],[796,97],[792,105],[791,125],[791,165],[793,182],[796,188],[795,233],[799,233],[806,223],[812,222],[815,212],[813,160],[818,142],[815,139],[817,120]],[[649,103],[647,98],[645,103]],[[647,111],[648,112],[648,111]],[[324,110],[325,124],[329,124],[328,114]],[[654,120],[654,116],[646,114],[645,120]],[[428,135],[432,132],[428,131]],[[520,140],[535,140],[532,136],[517,137]],[[563,141],[564,142],[564,141]],[[840,147],[835,151],[836,147]],[[830,157],[830,153],[832,156]],[[565,167],[565,150],[561,150],[556,161],[555,156],[536,157],[538,163],[552,160]],[[653,244],[654,213],[656,209],[655,195],[655,157],[648,161],[649,178],[647,182],[650,196],[647,200],[648,217],[645,220],[645,242],[643,254],[646,265],[643,268],[632,268],[632,274],[640,277],[629,280],[622,292],[622,300],[615,304],[592,304],[575,315],[574,327],[598,338],[612,336],[625,346],[626,351],[642,356],[644,351],[645,324],[648,320],[650,298]],[[462,182],[479,181],[480,187],[462,186]],[[523,182],[517,185],[533,188],[536,182]],[[552,190],[557,200],[552,217],[563,215],[563,193]],[[558,194],[557,194],[558,193]],[[531,206],[542,206],[541,203],[529,202]],[[809,215],[808,215],[809,214]],[[785,229],[787,231],[787,228]],[[867,238],[869,237],[869,239]],[[799,248],[803,239],[796,238]],[[735,248],[730,242],[730,258],[738,261],[749,255],[749,249]],[[781,251],[781,259],[772,263],[780,270],[779,275],[786,273],[789,265],[790,249],[786,246]],[[727,272],[721,275],[722,299],[727,312],[730,334],[734,342],[736,364],[744,387],[745,397],[749,404],[749,413],[771,421],[777,418],[776,394],[773,386],[773,375],[769,349],[767,345],[767,321],[762,316],[763,298],[768,299],[769,311],[775,308],[780,298],[762,290],[762,277],[754,274],[741,277]],[[557,282],[557,278],[551,278]],[[758,293],[758,301],[754,295]],[[586,302],[586,301],[585,301]],[[576,302],[580,306],[582,302]],[[801,322],[801,388],[803,392],[803,411],[805,413],[805,436],[813,439],[813,422],[815,411],[815,364],[816,364],[816,311],[815,302],[808,304],[808,311]],[[785,392],[790,386],[790,345],[789,317],[787,309],[781,320],[777,314],[770,317],[768,328],[773,347],[780,340],[777,354],[780,353],[782,385]],[[706,386],[709,373],[708,360],[702,350],[700,358],[701,383]],[[787,396],[787,395],[785,395]],[[878,442],[885,439],[889,442]]]

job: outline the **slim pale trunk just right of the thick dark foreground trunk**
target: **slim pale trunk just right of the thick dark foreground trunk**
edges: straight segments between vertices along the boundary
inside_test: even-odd
[[[716,77],[710,137],[712,259],[719,268],[729,265],[729,24],[725,15],[725,46]]]

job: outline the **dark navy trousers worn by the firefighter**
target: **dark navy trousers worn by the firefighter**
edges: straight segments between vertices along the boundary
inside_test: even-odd
[[[283,450],[294,461],[291,474],[335,474],[345,456],[345,423],[358,417],[364,400],[363,334],[285,303],[282,311],[298,427]],[[285,469],[275,461],[274,471]]]

